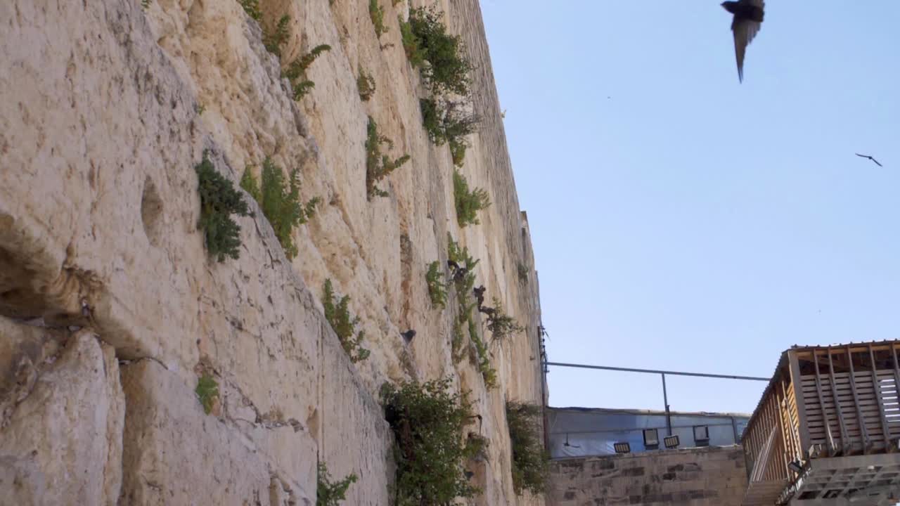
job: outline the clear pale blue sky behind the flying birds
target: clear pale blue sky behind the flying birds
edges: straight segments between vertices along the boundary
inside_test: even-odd
[[[716,0],[482,0],[551,360],[769,376],[900,338],[900,2],[811,5],[770,0],[741,85]],[[662,409],[656,375],[549,382]],[[668,383],[687,411],[765,385]]]

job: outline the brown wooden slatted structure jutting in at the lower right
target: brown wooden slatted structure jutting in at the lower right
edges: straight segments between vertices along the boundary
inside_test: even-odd
[[[788,349],[743,433],[750,473],[743,503],[860,493],[850,485],[845,491],[817,488],[838,482],[814,475],[825,467],[814,461],[830,459],[835,473],[841,462],[866,461],[851,456],[895,453],[898,438],[900,341]]]

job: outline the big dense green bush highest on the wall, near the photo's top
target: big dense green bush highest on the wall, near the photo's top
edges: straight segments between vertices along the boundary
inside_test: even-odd
[[[428,61],[427,65],[419,65],[419,69],[422,77],[431,86],[432,93],[467,96],[472,83],[469,74],[473,66],[464,56],[465,47],[462,38],[447,33],[442,18],[443,13],[438,12],[435,7],[412,9],[409,23],[410,32],[415,38],[407,39],[415,41],[422,59]],[[404,43],[404,50],[406,48],[407,45]],[[409,50],[407,55],[410,55]],[[411,58],[410,63],[416,66]]]

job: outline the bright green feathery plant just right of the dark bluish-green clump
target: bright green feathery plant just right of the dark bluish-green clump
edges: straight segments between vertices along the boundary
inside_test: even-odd
[[[313,197],[306,203],[301,201],[298,172],[294,168],[285,182],[281,167],[266,157],[263,161],[262,185],[257,184],[257,178],[253,176],[250,167],[244,170],[244,176],[240,179],[241,187],[259,203],[288,259],[295,258],[298,253],[297,246],[293,243],[293,229],[309,221],[316,213],[316,205],[320,203],[319,197]]]

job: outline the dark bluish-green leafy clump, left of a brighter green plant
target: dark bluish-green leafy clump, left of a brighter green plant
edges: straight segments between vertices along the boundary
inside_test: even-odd
[[[200,193],[197,228],[203,231],[206,249],[220,262],[225,261],[225,257],[238,258],[240,226],[231,219],[231,214],[247,216],[247,203],[234,185],[212,167],[207,152],[203,152],[202,162],[194,170]]]

